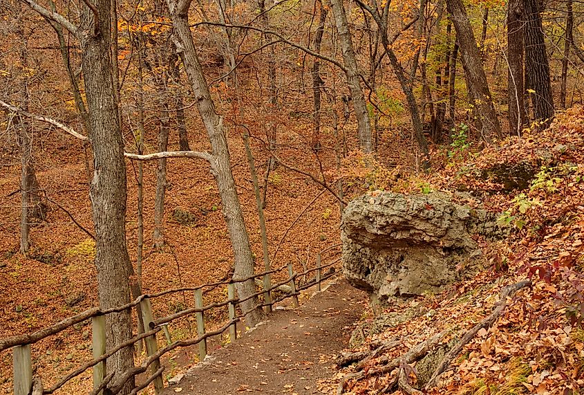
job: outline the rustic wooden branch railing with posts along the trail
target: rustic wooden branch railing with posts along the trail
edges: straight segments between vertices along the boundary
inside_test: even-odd
[[[326,279],[335,275],[334,268],[331,268],[328,273],[323,275],[323,269],[331,267],[337,264],[340,261],[340,258],[334,259],[330,261],[328,264],[321,264],[321,259],[323,255],[327,253],[329,255],[331,252],[338,252],[335,248],[338,248],[340,244],[335,244],[334,246],[330,246],[321,250],[317,254],[317,264],[314,268],[309,268],[304,270],[301,273],[294,273],[294,268],[292,264],[286,264],[281,266],[280,268],[276,268],[273,270],[267,270],[263,273],[254,274],[252,276],[246,277],[244,279],[231,279],[229,281],[221,281],[221,282],[213,282],[207,284],[201,284],[199,286],[191,286],[191,287],[182,287],[176,289],[169,289],[166,291],[161,291],[158,293],[151,293],[151,294],[144,294],[137,297],[130,303],[124,304],[122,306],[115,306],[111,309],[99,309],[97,307],[93,309],[88,309],[79,313],[77,315],[73,315],[72,317],[66,318],[53,324],[50,327],[46,327],[40,329],[31,334],[23,334],[18,336],[12,336],[10,338],[0,339],[0,351],[6,350],[12,347],[12,358],[13,358],[13,365],[14,365],[14,394],[15,395],[28,395],[30,393],[30,389],[32,387],[32,381],[34,377],[32,376],[32,358],[30,354],[30,347],[35,342],[47,338],[48,336],[55,335],[69,327],[72,327],[75,324],[79,324],[86,320],[90,320],[92,322],[92,341],[93,341],[93,359],[84,363],[84,365],[78,367],[74,371],[70,371],[64,378],[60,379],[57,383],[55,383],[52,387],[48,389],[42,389],[42,394],[49,395],[56,392],[58,389],[62,388],[66,383],[68,383],[71,379],[83,374],[88,369],[93,368],[93,391],[91,391],[91,395],[100,395],[104,393],[104,390],[107,389],[109,394],[117,394],[122,390],[124,385],[131,380],[134,376],[138,374],[142,374],[148,369],[150,369],[150,375],[141,383],[138,387],[135,387],[131,394],[138,394],[138,392],[153,383],[154,385],[154,392],[155,394],[160,394],[162,389],[164,389],[164,383],[162,380],[162,372],[164,371],[164,367],[160,365],[160,358],[164,356],[164,354],[169,353],[173,349],[178,347],[189,347],[192,345],[199,345],[199,358],[202,360],[207,355],[207,338],[211,336],[217,336],[222,334],[225,331],[229,331],[229,339],[234,342],[237,338],[237,330],[236,324],[241,319],[245,317],[245,312],[242,312],[241,315],[236,315],[236,304],[241,304],[246,300],[252,299],[253,297],[258,297],[261,295],[270,294],[272,291],[280,288],[281,286],[290,285],[290,289],[292,290],[291,293],[282,295],[281,297],[276,298],[268,298],[267,300],[271,300],[271,302],[267,302],[262,304],[262,306],[272,306],[273,304],[279,303],[285,299],[290,297],[293,298],[293,305],[298,306],[298,295],[300,292],[308,289],[312,286],[318,286],[318,291],[321,290],[321,282],[325,281]],[[334,256],[334,255],[333,255]],[[256,279],[258,277],[269,276],[274,273],[283,272],[283,270],[288,270],[288,277],[285,278],[282,282],[277,284],[270,284],[270,282],[263,282],[263,289],[254,293],[253,295],[247,295],[244,298],[236,297],[235,295],[235,284],[238,282],[247,282],[249,280]],[[297,279],[301,276],[308,275],[309,273],[316,272],[316,277],[310,279],[310,281],[305,282],[305,284],[297,284]],[[213,302],[207,305],[203,304],[203,289],[209,290],[209,288],[216,288],[218,286],[227,285],[227,300],[223,302]],[[167,315],[166,317],[162,318],[153,318],[152,308],[151,308],[151,300],[157,297],[163,297],[167,295],[171,295],[173,293],[181,293],[185,291],[192,291],[194,292],[194,299],[195,299],[195,307],[184,309],[182,311],[178,311],[177,313],[173,313],[171,315]],[[205,291],[205,292],[207,292]],[[266,299],[265,299],[266,300]],[[140,309],[138,311],[142,312],[142,318],[144,319],[144,327],[146,329],[145,333],[139,333],[137,336],[126,340],[117,347],[106,351],[106,323],[105,317],[111,313],[120,313],[121,311],[126,311],[132,308],[137,308],[140,305]],[[206,331],[205,329],[205,311],[209,311],[211,309],[220,309],[221,307],[227,306],[227,310],[229,312],[229,320],[223,324],[222,327],[214,330],[214,331]],[[167,328],[167,325],[178,318],[187,317],[189,315],[196,315],[197,321],[197,337],[194,339],[189,340],[177,340],[172,342],[170,332]],[[156,334],[160,331],[164,331],[165,338],[167,341],[167,345],[158,349],[158,342],[156,340]],[[114,374],[106,372],[106,360],[113,356],[113,354],[117,353],[121,349],[125,347],[131,347],[136,342],[140,342],[144,340],[146,343],[147,348],[147,357],[142,361],[142,363],[129,371],[124,372],[122,376],[115,378]],[[41,380],[37,380],[37,383],[40,383]],[[41,385],[42,387],[42,385]]]

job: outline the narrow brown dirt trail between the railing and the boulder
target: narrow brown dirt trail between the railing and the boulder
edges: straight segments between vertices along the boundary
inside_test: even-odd
[[[366,294],[341,277],[298,309],[274,311],[270,321],[211,353],[163,394],[321,394],[318,380],[334,374],[334,359],[365,308]]]

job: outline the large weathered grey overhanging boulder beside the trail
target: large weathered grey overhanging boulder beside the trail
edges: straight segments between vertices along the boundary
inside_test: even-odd
[[[391,192],[350,202],[341,228],[343,274],[380,302],[439,291],[475,273],[484,259],[471,236],[502,235],[484,210]]]

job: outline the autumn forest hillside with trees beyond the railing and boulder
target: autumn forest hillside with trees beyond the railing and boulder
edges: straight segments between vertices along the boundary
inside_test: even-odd
[[[452,174],[464,161],[502,146],[513,162],[526,151],[509,138],[545,145],[572,133],[556,114],[581,117],[572,0],[1,0],[0,13],[3,337],[142,292],[305,268],[339,244],[353,197],[476,189]],[[247,324],[260,304],[241,306]],[[109,347],[131,331],[129,314],[111,318]],[[81,353],[88,333],[66,336],[41,369]],[[131,350],[118,354],[123,371]]]

